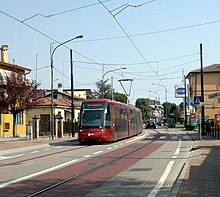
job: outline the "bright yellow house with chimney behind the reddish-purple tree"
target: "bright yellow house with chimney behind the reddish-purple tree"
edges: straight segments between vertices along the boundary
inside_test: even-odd
[[[31,69],[24,68],[22,66],[8,63],[8,46],[2,45],[1,50],[1,61],[0,61],[0,75],[4,77],[11,71],[19,74],[25,74],[30,72]],[[0,85],[3,85],[3,81],[0,81]],[[13,136],[13,117],[12,114],[0,113],[0,137],[12,137]],[[20,113],[16,117],[16,135],[26,136],[26,113]]]

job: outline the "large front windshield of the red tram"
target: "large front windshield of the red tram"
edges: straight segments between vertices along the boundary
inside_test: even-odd
[[[83,103],[80,114],[81,128],[106,128],[111,126],[111,109],[108,103]]]

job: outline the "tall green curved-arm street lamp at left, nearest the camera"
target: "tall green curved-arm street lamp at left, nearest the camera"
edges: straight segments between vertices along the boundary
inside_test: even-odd
[[[54,103],[53,103],[53,55],[54,55],[54,52],[56,51],[56,49],[72,40],[75,40],[75,39],[78,39],[78,38],[82,38],[83,35],[79,35],[79,36],[76,36],[74,38],[71,38],[59,45],[57,45],[53,51],[51,52],[51,55],[50,55],[50,69],[51,69],[51,132],[52,132],[52,140],[54,139]]]

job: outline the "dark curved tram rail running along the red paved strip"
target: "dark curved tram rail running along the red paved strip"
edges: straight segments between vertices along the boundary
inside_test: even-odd
[[[76,180],[76,179],[79,179],[79,178],[81,178],[81,177],[83,177],[83,176],[89,175],[90,173],[93,173],[93,172],[95,172],[95,171],[97,171],[97,170],[99,170],[99,169],[101,169],[101,168],[104,168],[104,167],[106,167],[106,166],[109,166],[109,165],[111,165],[111,164],[114,164],[115,162],[117,162],[117,161],[119,161],[119,160],[121,160],[121,159],[124,159],[124,158],[126,158],[126,157],[128,157],[128,156],[130,156],[130,155],[132,155],[132,154],[134,154],[134,153],[136,153],[136,152],[138,152],[138,151],[141,151],[141,150],[144,149],[144,148],[147,148],[148,146],[150,146],[150,145],[152,145],[153,143],[155,143],[156,141],[158,141],[158,140],[160,139],[160,137],[161,137],[160,132],[158,132],[158,131],[156,131],[156,130],[153,130],[153,131],[156,133],[156,135],[154,135],[155,137],[154,137],[153,139],[150,139],[149,142],[147,142],[146,144],[141,145],[141,146],[134,146],[133,144],[128,145],[127,147],[128,147],[128,148],[130,147],[131,150],[128,151],[127,153],[124,153],[124,154],[122,154],[122,155],[120,155],[120,156],[117,156],[117,157],[115,157],[115,158],[112,158],[112,159],[110,159],[109,161],[106,161],[106,162],[103,162],[103,163],[102,163],[102,162],[101,162],[101,163],[98,163],[98,164],[96,164],[95,166],[93,166],[93,167],[91,167],[91,168],[89,168],[89,169],[87,169],[87,170],[84,170],[84,171],[78,172],[78,173],[76,173],[76,174],[73,174],[72,176],[69,176],[69,177],[67,177],[67,178],[65,178],[65,179],[63,179],[63,180],[61,180],[61,181],[59,181],[59,182],[56,182],[56,183],[53,183],[53,184],[51,184],[51,185],[49,185],[49,186],[46,186],[46,187],[44,187],[44,188],[41,188],[41,189],[39,189],[39,190],[37,190],[37,191],[35,191],[35,192],[32,192],[32,193],[30,193],[30,194],[28,194],[28,195],[26,195],[26,196],[27,196],[27,197],[33,197],[33,196],[42,195],[42,194],[47,193],[47,192],[52,192],[53,189],[56,189],[56,188],[58,188],[59,186],[63,186],[63,185],[65,185],[65,184],[68,183],[68,182],[71,182],[71,181],[74,181],[74,180]],[[144,141],[144,140],[146,140],[146,139],[143,139],[143,140],[141,140],[141,141]],[[124,148],[124,147],[123,147],[123,148]]]

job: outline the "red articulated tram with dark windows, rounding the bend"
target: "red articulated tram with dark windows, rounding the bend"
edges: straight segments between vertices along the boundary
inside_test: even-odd
[[[78,141],[114,142],[138,135],[143,122],[140,109],[109,99],[83,101],[80,110]]]

